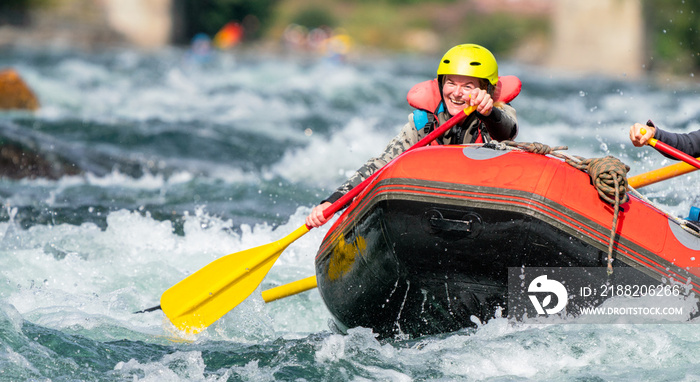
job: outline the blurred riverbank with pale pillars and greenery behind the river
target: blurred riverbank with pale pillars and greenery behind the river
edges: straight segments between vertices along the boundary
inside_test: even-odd
[[[553,70],[687,77],[700,65],[691,0],[3,0],[0,48],[213,40],[219,49],[437,54],[463,42]]]

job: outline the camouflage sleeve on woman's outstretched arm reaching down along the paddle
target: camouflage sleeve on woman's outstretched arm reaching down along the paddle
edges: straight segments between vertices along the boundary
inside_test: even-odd
[[[416,144],[419,140],[418,131],[413,125],[413,114],[409,115],[408,123],[404,125],[399,134],[394,137],[394,139],[389,142],[389,144],[384,149],[384,152],[378,157],[371,158],[362,167],[360,167],[354,175],[350,177],[345,183],[343,183],[338,189],[335,190],[324,202],[334,203],[336,200],[340,199],[348,191],[353,189],[358,184],[362,183],[363,180],[367,179],[370,175],[374,174],[377,170],[384,167],[392,159],[399,156],[404,151],[408,150],[411,146]]]

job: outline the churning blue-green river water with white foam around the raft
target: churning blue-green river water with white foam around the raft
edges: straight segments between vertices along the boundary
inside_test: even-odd
[[[313,290],[260,291],[310,276],[328,226],[284,251],[258,291],[197,336],[175,333],[167,288],[223,255],[280,239],[405,123],[410,87],[437,57],[345,63],[182,50],[4,51],[42,104],[0,113],[4,137],[77,163],[57,180],[0,179],[0,380],[697,381],[691,324],[514,324],[410,340],[333,332]],[[523,91],[519,141],[613,155],[631,175],[670,164],[634,148],[652,119],[700,128],[692,75],[631,81],[501,63]],[[698,174],[640,189],[686,216]],[[653,234],[651,230],[650,234]]]

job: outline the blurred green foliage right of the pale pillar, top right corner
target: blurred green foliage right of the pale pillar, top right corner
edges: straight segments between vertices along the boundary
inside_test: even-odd
[[[700,0],[644,0],[650,69],[700,68]]]

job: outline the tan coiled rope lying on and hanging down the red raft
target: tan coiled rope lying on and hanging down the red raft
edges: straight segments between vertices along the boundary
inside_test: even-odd
[[[615,235],[617,232],[617,219],[620,212],[620,205],[627,203],[627,173],[630,167],[613,156],[603,158],[583,158],[575,155],[564,155],[559,152],[567,150],[567,146],[550,147],[539,142],[513,142],[503,141],[496,146],[515,147],[523,151],[528,151],[541,155],[552,155],[563,159],[566,163],[581,171],[588,173],[591,181],[598,191],[598,196],[608,204],[614,206],[613,222],[610,229],[610,241],[608,243],[608,274],[612,274],[613,250],[615,245]]]

